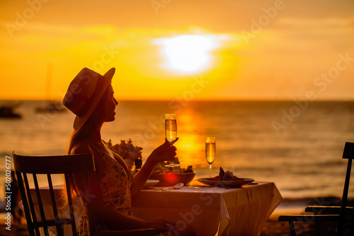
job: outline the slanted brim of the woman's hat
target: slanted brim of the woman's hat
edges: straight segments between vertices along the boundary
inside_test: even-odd
[[[105,90],[107,90],[108,86],[110,85],[114,73],[115,73],[115,68],[113,67],[103,75],[104,80],[102,83],[102,88],[100,88],[100,90],[98,90],[96,95],[92,98],[91,105],[86,110],[85,114],[80,117],[76,115],[74,120],[74,129],[79,129],[81,126],[85,124],[87,119],[89,119],[93,110],[96,109],[98,102],[101,100],[103,94],[105,93]]]

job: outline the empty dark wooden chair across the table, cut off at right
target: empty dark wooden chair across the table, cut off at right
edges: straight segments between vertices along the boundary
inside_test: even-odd
[[[344,235],[344,223],[350,221],[348,235],[354,235],[354,211],[353,207],[347,206],[348,190],[350,182],[350,172],[352,161],[354,158],[354,143],[346,142],[343,150],[344,159],[348,159],[346,179],[344,182],[343,196],[341,206],[308,206],[305,211],[312,212],[312,215],[283,215],[278,218],[279,221],[288,221],[290,233],[296,235],[294,222],[313,222],[316,225],[316,235],[320,235],[319,223],[321,222],[338,222],[337,236]]]

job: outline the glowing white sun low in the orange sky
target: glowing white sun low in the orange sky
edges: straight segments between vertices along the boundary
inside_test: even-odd
[[[212,37],[205,35],[178,35],[159,39],[165,57],[163,67],[179,73],[197,73],[207,69],[211,50],[215,47]]]

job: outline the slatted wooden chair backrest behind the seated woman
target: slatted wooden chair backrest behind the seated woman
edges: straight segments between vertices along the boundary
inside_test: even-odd
[[[72,173],[82,173],[87,190],[84,194],[91,196],[89,172],[95,171],[92,154],[29,156],[13,152],[13,167],[16,170],[30,235],[40,235],[40,232],[49,235],[52,230],[57,235],[64,235],[68,228],[72,235],[76,235],[74,199],[70,191]],[[61,174],[61,179],[64,175],[64,187],[53,187],[53,179],[57,179],[58,174]],[[66,210],[62,209],[62,196],[58,196],[63,192],[67,197]],[[90,201],[87,201],[87,207],[89,219],[92,219]]]

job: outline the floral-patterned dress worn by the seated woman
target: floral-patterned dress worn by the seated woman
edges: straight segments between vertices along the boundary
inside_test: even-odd
[[[116,211],[125,213],[127,216],[132,215],[132,198],[130,193],[130,186],[132,184],[132,172],[129,170],[127,173],[125,168],[110,156],[102,153],[96,146],[89,143],[94,147],[98,153],[101,154],[105,165],[105,172],[98,182],[102,191],[105,206],[114,208]],[[106,225],[96,223],[94,226],[95,232],[119,230],[118,228],[110,228]],[[86,236],[89,234],[89,216],[86,211],[82,213],[79,220],[79,227],[77,229],[79,236]]]

